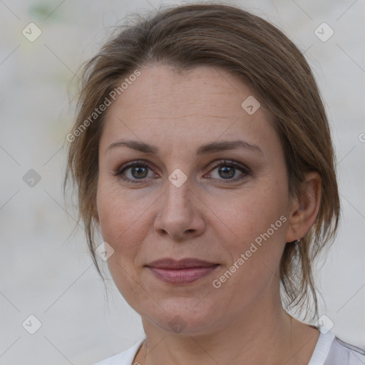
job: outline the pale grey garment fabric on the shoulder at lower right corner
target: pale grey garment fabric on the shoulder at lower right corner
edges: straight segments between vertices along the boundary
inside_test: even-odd
[[[365,351],[335,337],[324,365],[327,364],[364,365]]]

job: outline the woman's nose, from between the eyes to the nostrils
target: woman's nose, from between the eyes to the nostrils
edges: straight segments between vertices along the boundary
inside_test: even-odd
[[[174,240],[197,237],[205,230],[205,220],[197,195],[190,189],[189,180],[180,187],[166,182],[165,194],[160,197],[160,209],[155,217],[154,228],[159,235]]]

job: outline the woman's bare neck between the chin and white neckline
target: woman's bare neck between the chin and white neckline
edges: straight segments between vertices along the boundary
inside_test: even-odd
[[[293,319],[269,297],[209,334],[171,334],[146,317],[143,327],[145,349],[136,357],[143,365],[308,364],[319,337],[317,329]]]

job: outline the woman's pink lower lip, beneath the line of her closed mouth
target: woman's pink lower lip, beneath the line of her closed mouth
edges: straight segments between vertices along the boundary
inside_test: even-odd
[[[163,282],[170,284],[190,284],[190,282],[195,282],[197,279],[206,277],[216,267],[217,265],[210,267],[190,267],[189,269],[160,269],[158,267],[148,267],[148,269],[153,272],[155,277]]]

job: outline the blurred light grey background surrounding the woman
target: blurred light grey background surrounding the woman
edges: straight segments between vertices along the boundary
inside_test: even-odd
[[[327,306],[321,314],[337,336],[365,349],[364,0],[229,3],[276,24],[314,70],[336,145],[343,207],[339,235],[316,274]],[[0,1],[0,364],[93,364],[143,335],[138,314],[111,280],[105,291],[61,182],[74,74],[108,27],[159,5]],[[34,42],[22,34],[30,22],[42,31]],[[334,30],[326,42],[314,34],[323,22]],[[34,187],[23,180],[30,169],[41,177]],[[42,324],[33,335],[22,327],[31,314]]]

